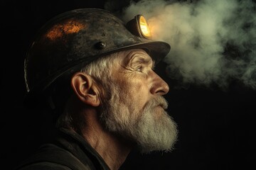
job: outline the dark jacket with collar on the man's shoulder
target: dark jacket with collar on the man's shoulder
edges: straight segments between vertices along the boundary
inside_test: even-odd
[[[80,135],[61,128],[53,142],[42,145],[16,170],[110,170]]]

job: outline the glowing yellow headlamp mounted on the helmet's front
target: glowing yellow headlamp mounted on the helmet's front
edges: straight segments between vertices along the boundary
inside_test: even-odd
[[[142,15],[137,15],[131,21],[129,21],[127,23],[127,28],[134,35],[151,39],[149,26],[146,23],[146,19]]]

